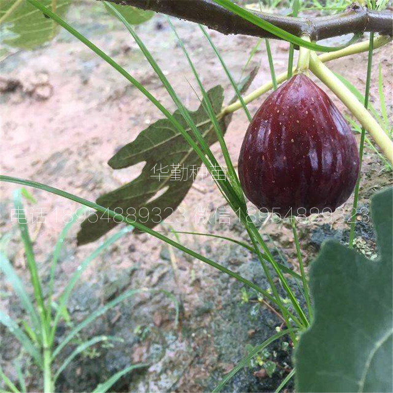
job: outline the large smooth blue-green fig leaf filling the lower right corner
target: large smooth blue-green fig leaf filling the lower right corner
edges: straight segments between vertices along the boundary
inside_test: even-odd
[[[393,189],[371,199],[380,257],[328,241],[310,269],[315,319],[296,351],[297,392],[393,392]]]

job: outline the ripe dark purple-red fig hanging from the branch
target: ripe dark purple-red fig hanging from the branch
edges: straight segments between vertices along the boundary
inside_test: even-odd
[[[351,195],[358,170],[351,129],[327,94],[303,74],[261,105],[239,157],[246,196],[281,217],[334,211]]]

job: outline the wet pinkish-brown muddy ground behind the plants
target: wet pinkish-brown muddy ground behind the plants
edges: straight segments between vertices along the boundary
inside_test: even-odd
[[[128,32],[109,19],[99,7],[99,4],[94,5],[86,12],[82,5],[76,6],[70,11],[68,20],[114,57],[167,108],[174,110],[168,94]],[[82,15],[84,18],[81,18]],[[205,87],[222,84],[225,99],[229,101],[233,95],[230,84],[200,30],[191,23],[177,20],[173,20],[173,23],[192,54]],[[155,16],[139,26],[137,31],[185,105],[196,109],[198,99],[189,82],[193,86],[197,84],[166,19]],[[226,37],[215,31],[211,31],[211,35],[238,80],[257,39]],[[272,41],[271,46],[276,72],[281,73],[286,69],[288,44]],[[249,91],[270,79],[263,45],[249,69],[257,64],[260,65],[259,72]],[[392,97],[392,45],[375,51],[371,102],[377,109],[379,64],[382,64],[385,76],[384,89],[388,112],[391,113],[392,101],[388,97]],[[330,66],[363,91],[366,54],[338,59]],[[1,62],[1,76],[19,83],[15,89],[1,95],[2,174],[39,181],[94,200],[140,173],[143,164],[112,170],[107,161],[121,146],[134,140],[148,124],[162,117],[161,114],[135,87],[68,33],[61,31],[54,42],[32,52],[21,51],[9,56]],[[265,97],[249,104],[251,113],[256,111]],[[333,100],[343,110],[335,97]],[[237,161],[246,128],[245,114],[236,112],[225,137],[234,162]],[[219,152],[218,144],[214,145],[213,151]],[[220,158],[223,161],[219,155],[219,161]],[[367,207],[375,191],[391,184],[391,173],[369,147],[365,148],[362,172],[360,207]],[[15,188],[10,184],[1,184],[1,233],[11,235],[6,252],[31,290],[23,245],[15,220],[11,217],[12,191]],[[51,212],[45,224],[29,225],[45,286],[56,239],[64,225],[63,215],[69,213],[69,210],[64,213],[63,209],[75,211],[78,205],[43,191],[31,192],[37,202],[28,205],[29,211],[42,207],[46,212]],[[351,198],[344,208],[349,207],[350,203]],[[193,212],[197,206],[212,210],[224,206],[224,200],[210,178],[197,180],[181,206],[187,212],[187,220],[184,224],[172,224],[175,229],[247,239],[234,217],[230,224],[193,223]],[[300,238],[306,264],[312,261],[325,239],[334,237],[345,242],[348,228],[349,225],[345,223],[301,225]],[[77,230],[78,225],[64,242],[56,271],[56,294],[60,293],[84,257],[100,244],[97,241],[77,247]],[[290,227],[269,222],[264,225],[263,233],[271,235],[286,263],[298,271]],[[356,234],[358,249],[367,256],[375,256],[375,236],[371,225],[359,224]],[[257,260],[239,246],[192,235],[180,235],[180,239],[186,246],[267,288]],[[1,285],[2,308],[14,318],[22,318],[23,312],[17,299],[10,295],[11,287],[4,280]],[[127,289],[142,287],[163,289],[175,295],[180,303],[179,324],[175,325],[173,301],[162,292],[146,292],[126,300],[98,318],[78,337],[78,342],[81,342],[97,334],[111,335],[123,338],[124,342],[85,351],[61,374],[57,391],[90,391],[114,372],[139,362],[149,365],[122,378],[114,390],[208,391],[247,354],[249,345],[261,343],[281,326],[282,321],[269,308],[260,305],[253,293],[245,302],[240,283],[176,250],[172,253],[167,245],[145,234],[127,234],[97,257],[84,273],[70,300],[68,310],[72,322],[60,326],[57,342],[61,341],[72,324],[81,321],[101,304]],[[18,342],[4,328],[1,328],[1,335],[1,366],[7,375],[16,380],[13,361],[20,359],[27,375],[28,391],[40,390],[37,371],[32,365],[28,373],[31,363]],[[292,368],[291,348],[287,346],[286,339],[284,337],[272,345],[264,354],[265,362],[272,361],[277,365],[272,377],[260,365],[253,363],[237,374],[227,385],[227,391],[276,389]],[[66,348],[61,359],[76,344],[73,342]],[[287,389],[291,390],[291,384]]]

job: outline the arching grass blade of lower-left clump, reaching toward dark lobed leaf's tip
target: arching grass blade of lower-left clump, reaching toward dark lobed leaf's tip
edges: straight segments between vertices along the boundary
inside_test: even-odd
[[[119,232],[115,233],[112,235],[110,238],[108,238],[100,247],[98,247],[96,250],[94,250],[84,261],[79,265],[77,270],[74,272],[74,274],[71,276],[71,279],[68,281],[67,286],[64,288],[60,300],[59,300],[59,305],[58,309],[56,311],[56,316],[53,322],[53,327],[51,331],[51,341],[53,342],[56,334],[56,329],[57,329],[57,324],[58,321],[60,320],[60,317],[62,313],[64,312],[64,309],[67,308],[67,302],[68,299],[71,295],[72,290],[74,289],[77,281],[81,278],[82,274],[86,270],[86,268],[89,266],[89,264],[103,251],[108,249],[110,246],[112,246],[113,243],[115,243],[117,240],[119,240],[121,237],[123,237],[126,233],[129,233],[133,230],[132,226],[126,226],[125,228],[121,229]]]

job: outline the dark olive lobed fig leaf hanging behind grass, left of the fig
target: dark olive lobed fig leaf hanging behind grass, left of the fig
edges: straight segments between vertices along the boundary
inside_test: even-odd
[[[256,71],[257,69],[254,69],[242,81],[239,86],[241,92],[244,92],[249,87]],[[215,86],[207,94],[214,112],[221,112],[224,101],[223,87]],[[236,97],[231,102],[235,100]],[[202,101],[197,111],[189,111],[189,113],[197,124],[198,130],[205,138],[206,143],[212,145],[217,141],[217,136],[203,105]],[[189,129],[178,110],[173,113],[173,116],[184,129]],[[223,133],[225,133],[230,120],[231,114],[220,120]],[[189,132],[191,134],[191,131]],[[129,215],[131,220],[140,221],[152,228],[176,211],[196,179],[192,173],[195,173],[197,168],[200,167],[201,161],[192,147],[166,118],[156,121],[141,131],[133,142],[123,146],[109,160],[109,165],[113,169],[119,169],[130,167],[143,161],[146,164],[140,176],[130,183],[99,197],[97,203],[110,209],[117,208],[116,212],[123,212],[124,215]],[[176,172],[172,171],[177,169],[172,167],[172,165],[178,164],[180,164],[180,168],[178,168],[180,171],[176,174]],[[183,170],[182,168],[186,169]],[[156,172],[156,169],[162,170]],[[167,175],[164,173],[163,176],[161,173],[165,171],[168,171],[168,173]],[[160,174],[160,178],[152,177]],[[173,176],[183,176],[183,178],[182,180],[175,180]],[[149,213],[148,217],[144,217],[147,215],[147,212]],[[179,213],[182,212],[179,211]],[[89,222],[89,218],[87,218],[82,223],[81,230],[78,233],[79,245],[100,238],[118,224],[108,216],[103,218],[95,217],[90,221],[92,222]]]

